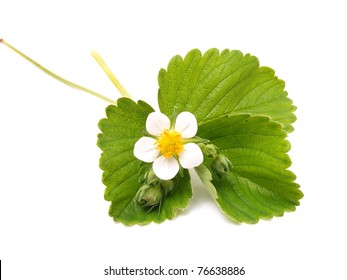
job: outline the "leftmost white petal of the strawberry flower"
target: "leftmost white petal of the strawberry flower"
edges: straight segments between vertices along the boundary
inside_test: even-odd
[[[144,162],[153,162],[159,155],[155,143],[157,140],[151,137],[141,137],[134,146],[134,156]]]

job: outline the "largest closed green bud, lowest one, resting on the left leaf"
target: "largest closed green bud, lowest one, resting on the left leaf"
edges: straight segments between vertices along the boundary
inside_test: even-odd
[[[143,185],[135,196],[135,201],[141,206],[155,207],[157,206],[163,197],[161,186],[157,185]]]

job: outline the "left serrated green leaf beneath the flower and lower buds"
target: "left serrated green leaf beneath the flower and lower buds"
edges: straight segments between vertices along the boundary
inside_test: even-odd
[[[146,131],[146,119],[153,109],[145,102],[136,104],[128,98],[118,99],[117,106],[106,108],[106,119],[99,122],[101,134],[98,146],[103,151],[100,168],[106,186],[105,199],[111,201],[109,214],[116,222],[126,225],[162,222],[172,219],[177,209],[187,206],[191,197],[189,175],[175,179],[175,189],[168,195],[158,211],[149,213],[133,199],[141,187],[139,183],[140,161],[133,155],[135,142]]]

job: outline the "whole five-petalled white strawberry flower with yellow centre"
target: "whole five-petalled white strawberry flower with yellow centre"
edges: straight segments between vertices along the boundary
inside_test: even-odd
[[[152,137],[141,137],[135,143],[134,155],[144,162],[153,162],[153,171],[160,179],[175,177],[180,165],[188,169],[203,162],[200,147],[190,140],[198,130],[192,113],[180,113],[173,125],[163,113],[150,113],[146,130]]]

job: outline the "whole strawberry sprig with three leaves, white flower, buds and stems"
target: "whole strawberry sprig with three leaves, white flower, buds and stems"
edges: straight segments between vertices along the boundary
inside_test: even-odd
[[[58,81],[116,103],[54,74],[3,39],[0,43]],[[92,55],[122,96],[130,98],[103,59],[95,51]],[[256,223],[299,205],[303,194],[287,170],[290,144],[285,140],[293,130],[295,107],[272,69],[259,67],[256,57],[240,51],[210,49],[202,55],[195,49],[184,59],[175,56],[158,80],[159,107],[167,116],[151,114],[146,123],[153,109],[121,98],[99,122],[105,199],[111,201],[115,221],[133,225],[172,219],[192,196],[183,168],[194,167],[235,221]]]

